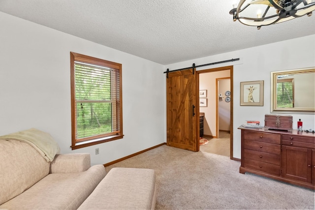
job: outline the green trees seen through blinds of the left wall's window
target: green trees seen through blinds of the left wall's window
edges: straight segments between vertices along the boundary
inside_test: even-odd
[[[75,63],[77,138],[112,131],[111,72]]]

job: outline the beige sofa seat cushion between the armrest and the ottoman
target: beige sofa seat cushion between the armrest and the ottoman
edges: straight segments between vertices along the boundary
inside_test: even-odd
[[[103,165],[78,173],[49,174],[0,209],[77,209],[105,177]]]

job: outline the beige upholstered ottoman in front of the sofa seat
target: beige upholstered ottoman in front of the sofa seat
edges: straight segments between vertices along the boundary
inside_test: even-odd
[[[112,168],[79,210],[147,210],[156,204],[153,169]]]

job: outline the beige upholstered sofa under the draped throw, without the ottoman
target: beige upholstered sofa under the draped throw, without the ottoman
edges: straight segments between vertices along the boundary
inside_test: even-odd
[[[35,129],[22,133],[51,138]],[[90,167],[89,153],[56,154],[50,161],[14,138],[0,137],[0,209],[77,209],[105,177],[103,165]]]

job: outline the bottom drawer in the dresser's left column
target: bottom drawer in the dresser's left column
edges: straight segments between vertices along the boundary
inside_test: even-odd
[[[257,171],[266,172],[268,174],[280,175],[280,166],[264,163],[257,160],[246,159],[244,160],[244,167],[251,168]]]

